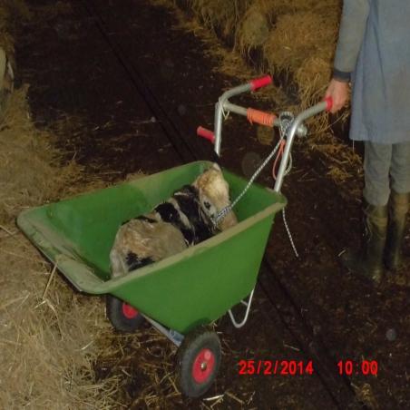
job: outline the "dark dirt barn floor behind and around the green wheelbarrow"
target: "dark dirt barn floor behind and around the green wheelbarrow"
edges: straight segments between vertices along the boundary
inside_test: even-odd
[[[58,143],[66,161],[75,156],[88,174],[119,181],[135,171],[214,158],[195,131],[212,128],[215,102],[239,79],[216,71],[220,62],[211,44],[178,29],[173,8],[147,0],[77,0],[58,2],[51,13],[45,7],[54,4],[50,0],[28,4],[36,18],[19,26],[18,81],[31,84],[39,126],[70,119]],[[236,102],[275,109],[256,95]],[[221,165],[243,174],[247,153],[268,156],[273,145],[259,142],[258,130],[231,115],[224,122]],[[395,277],[387,272],[375,289],[340,267],[338,254],[358,244],[362,181],[352,176],[337,185],[326,172],[319,151],[295,143],[282,192],[298,258],[278,214],[249,323],[237,330],[222,317],[217,324],[223,356],[210,391],[200,399],[181,397],[170,377],[175,347],[144,324],[135,336],[112,332],[112,348],[95,365],[101,378],[122,378],[118,408],[410,408],[407,269]],[[274,185],[268,169],[258,181]],[[314,372],[239,375],[241,360],[312,361]],[[353,362],[351,375],[339,374],[340,361]],[[376,376],[360,374],[363,361],[376,362]]]

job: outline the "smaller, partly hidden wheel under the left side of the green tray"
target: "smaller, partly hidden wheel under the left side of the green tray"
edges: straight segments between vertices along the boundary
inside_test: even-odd
[[[106,295],[105,302],[107,317],[117,330],[132,333],[141,326],[144,317],[134,307],[112,295]]]

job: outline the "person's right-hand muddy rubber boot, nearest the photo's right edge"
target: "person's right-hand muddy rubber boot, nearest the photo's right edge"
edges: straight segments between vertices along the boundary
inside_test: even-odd
[[[388,203],[388,223],[385,248],[386,268],[395,272],[403,263],[402,245],[409,210],[409,193],[390,193]]]

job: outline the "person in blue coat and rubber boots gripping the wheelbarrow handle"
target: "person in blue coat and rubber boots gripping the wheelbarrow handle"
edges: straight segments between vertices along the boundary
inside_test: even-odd
[[[347,102],[350,139],[365,144],[361,245],[341,255],[352,273],[379,284],[383,265],[402,266],[410,192],[410,1],[344,0],[331,112]]]

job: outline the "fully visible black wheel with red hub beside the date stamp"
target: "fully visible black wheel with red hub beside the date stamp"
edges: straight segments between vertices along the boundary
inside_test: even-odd
[[[175,359],[177,384],[184,395],[203,395],[220,368],[220,338],[209,327],[195,327],[182,341]]]

